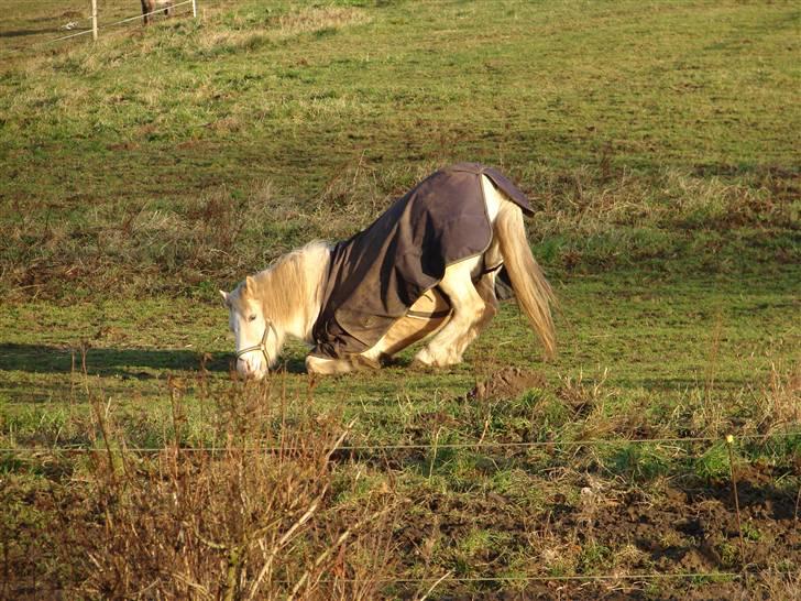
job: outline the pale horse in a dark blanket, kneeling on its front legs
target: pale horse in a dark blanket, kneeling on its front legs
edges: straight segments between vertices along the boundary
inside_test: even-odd
[[[232,292],[220,289],[237,371],[264,378],[287,337],[312,347],[305,363],[314,374],[377,369],[420,340],[416,362],[454,365],[496,315],[500,277],[511,281],[552,357],[556,298],[528,245],[524,212],[533,214],[528,200],[500,172],[461,163],[429,176],[351,239],[309,242]]]

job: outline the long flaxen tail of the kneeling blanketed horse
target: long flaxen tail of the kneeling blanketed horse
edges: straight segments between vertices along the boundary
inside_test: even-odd
[[[528,247],[523,211],[517,205],[508,201],[501,204],[495,220],[495,236],[517,304],[523,307],[534,331],[542,341],[546,354],[553,357],[557,340],[550,306],[556,305],[556,296]]]

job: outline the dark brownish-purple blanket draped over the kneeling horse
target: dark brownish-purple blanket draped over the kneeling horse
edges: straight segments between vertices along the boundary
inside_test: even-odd
[[[526,196],[493,167],[459,163],[434,173],[333,248],[312,354],[341,359],[375,346],[448,265],[486,251],[492,226],[482,175],[533,215]]]

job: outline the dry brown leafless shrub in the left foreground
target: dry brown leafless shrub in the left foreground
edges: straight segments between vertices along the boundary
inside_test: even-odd
[[[102,404],[91,478],[101,516],[86,536],[84,584],[99,598],[373,599],[392,568],[386,490],[338,501],[331,457],[348,430],[293,415],[268,385],[233,385],[218,450],[176,442],[152,459],[124,452]],[[268,450],[267,450],[268,449]],[[123,451],[123,452],[120,452]],[[341,492],[341,491],[339,491]]]

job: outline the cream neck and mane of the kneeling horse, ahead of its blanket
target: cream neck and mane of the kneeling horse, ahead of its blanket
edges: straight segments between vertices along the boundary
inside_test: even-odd
[[[311,330],[320,314],[322,288],[331,261],[331,249],[311,243],[294,251],[295,256],[276,267],[274,292],[285,295],[288,307],[281,327],[285,335],[312,342]]]

